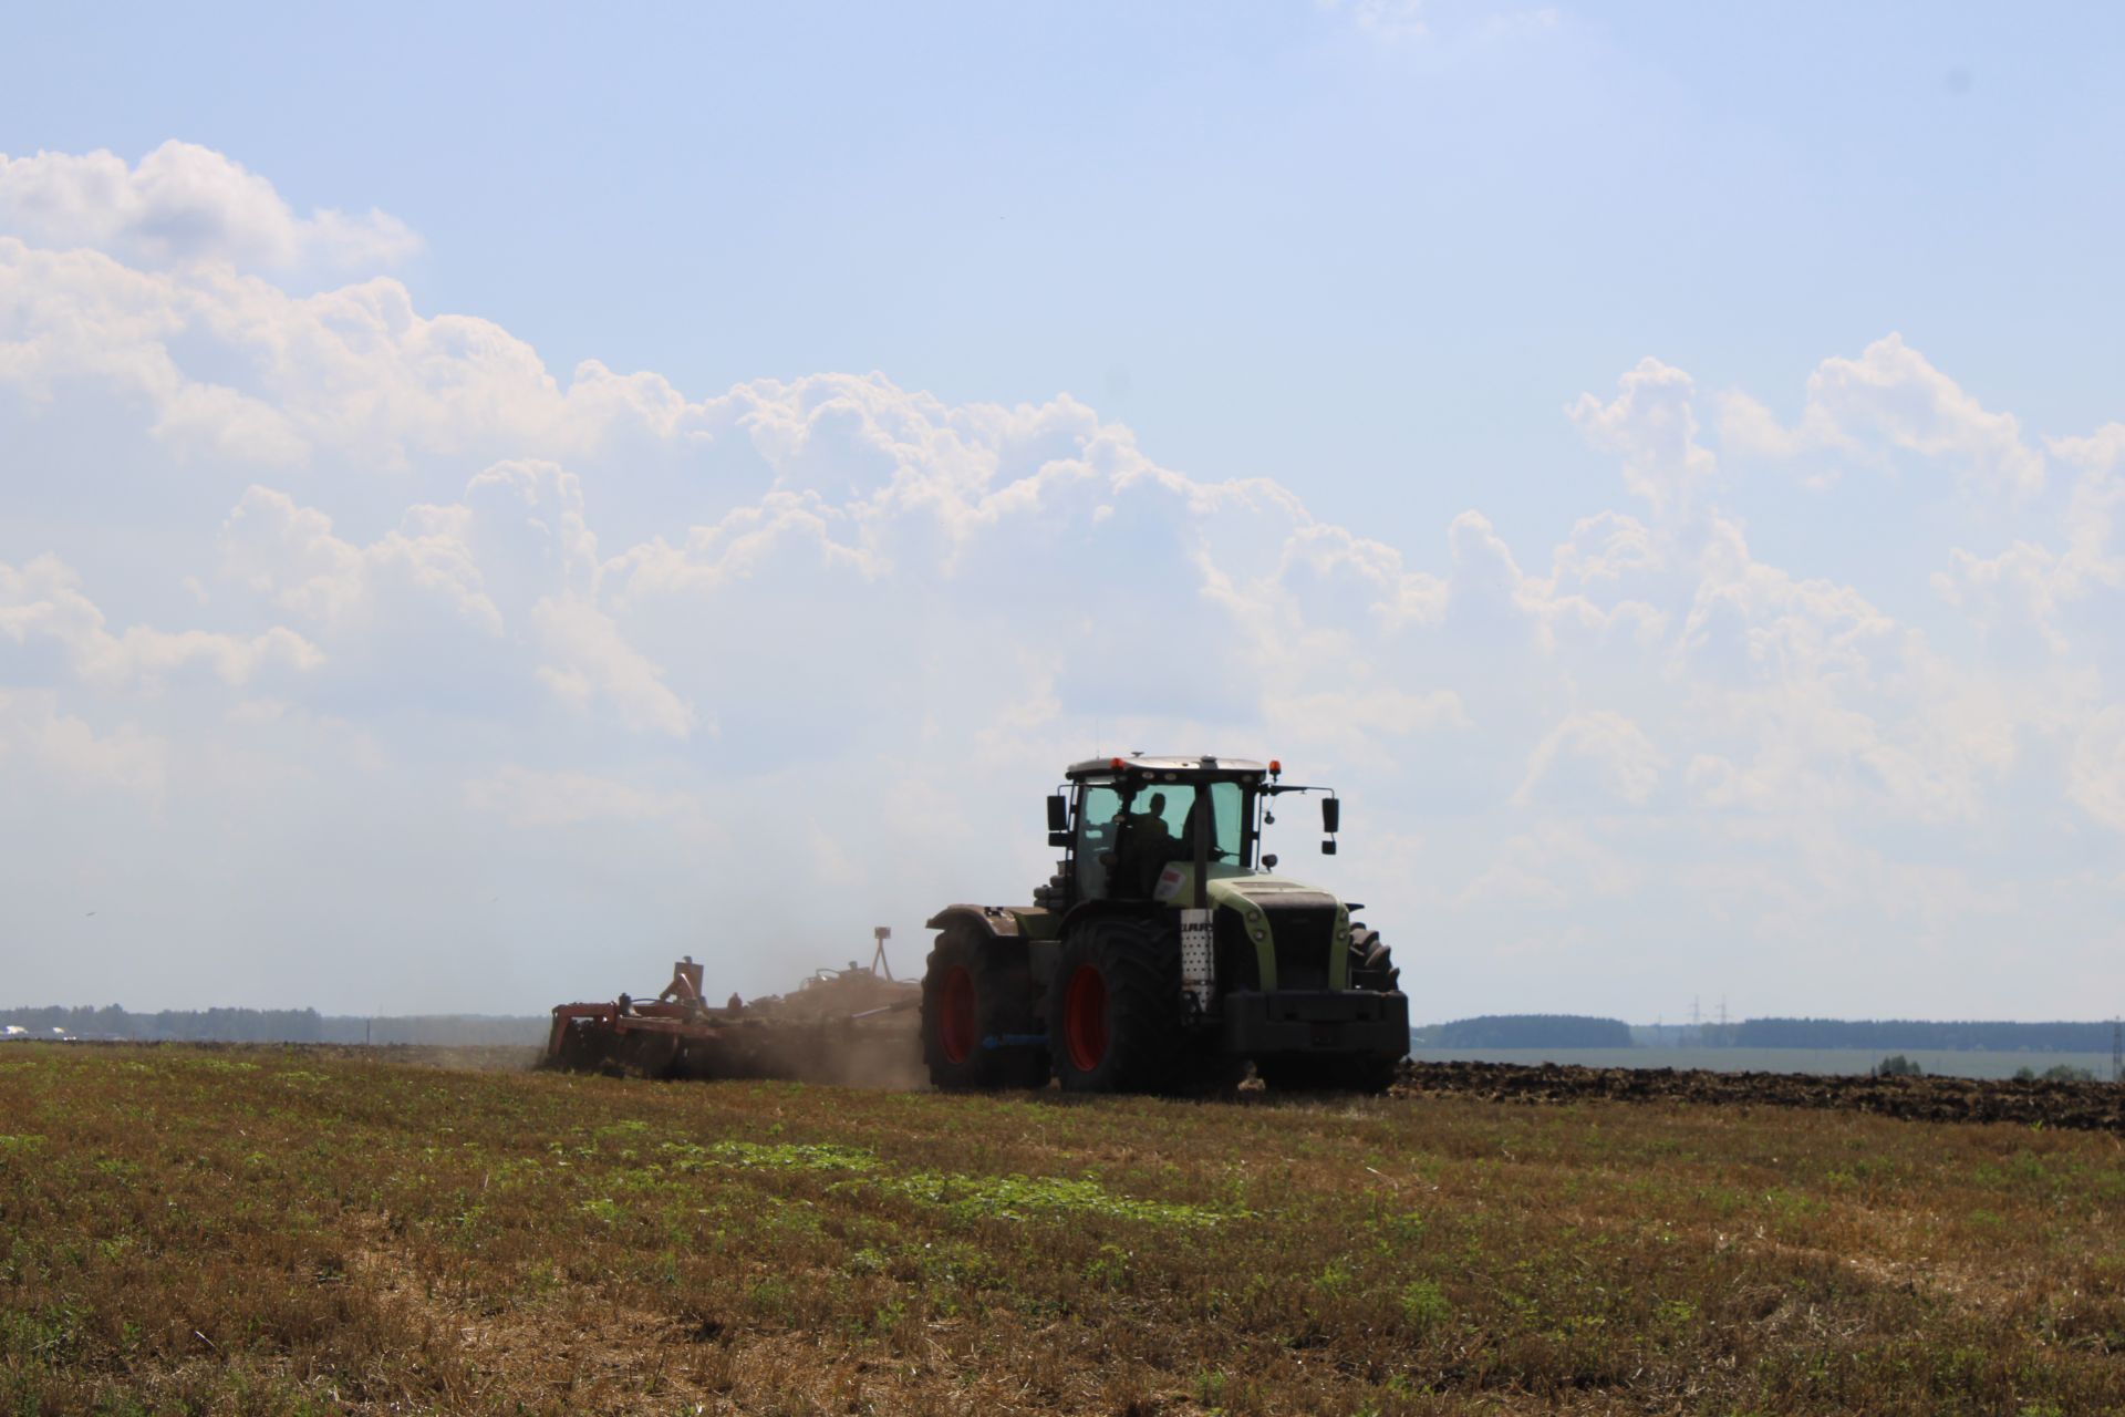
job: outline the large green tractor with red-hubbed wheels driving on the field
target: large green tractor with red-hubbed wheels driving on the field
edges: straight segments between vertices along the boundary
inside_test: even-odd
[[[1362,905],[1275,875],[1279,763],[1092,758],[1048,799],[1062,850],[1033,905],[931,918],[922,1058],[948,1090],[1192,1092],[1239,1081],[1383,1092],[1409,998]]]

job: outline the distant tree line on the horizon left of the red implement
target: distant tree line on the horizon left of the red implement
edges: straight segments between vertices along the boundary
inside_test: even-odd
[[[164,1009],[128,1013],[119,1005],[0,1009],[0,1024],[36,1037],[64,1028],[76,1039],[130,1039],[140,1043],[542,1043],[546,1018],[482,1013],[423,1013],[359,1018],[317,1009]]]

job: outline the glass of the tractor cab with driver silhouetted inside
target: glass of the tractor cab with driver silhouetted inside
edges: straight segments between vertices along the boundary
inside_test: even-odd
[[[1209,858],[1239,863],[1245,792],[1237,782],[1092,782],[1077,797],[1077,884],[1084,899],[1150,897],[1169,863],[1188,863],[1190,820],[1209,812]]]

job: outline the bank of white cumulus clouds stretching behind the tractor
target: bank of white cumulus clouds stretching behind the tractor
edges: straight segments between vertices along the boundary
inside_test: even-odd
[[[597,939],[780,988],[871,924],[1024,899],[1037,797],[1116,748],[1334,782],[1343,852],[1307,873],[1470,990],[1513,986],[1502,952],[1980,958],[2032,899],[2072,950],[2108,939],[2125,425],[2025,436],[1891,336],[1823,361],[1794,425],[1723,399],[1711,444],[1694,376],[1645,359],[1566,410],[1611,472],[1553,520],[1468,476],[1466,510],[1390,533],[1171,467],[1069,395],[555,372],[416,308],[385,238],[302,293],[321,219],[178,159],[183,202],[106,155],[17,159],[0,212],[0,448],[68,470],[0,503],[0,890],[66,916],[85,837],[223,882],[119,960],[140,977],[300,937],[363,960],[342,988],[448,958],[542,1007]],[[1768,455],[1893,457],[1868,491],[1900,554],[1781,554],[1732,476]],[[242,916],[232,860],[300,911]]]

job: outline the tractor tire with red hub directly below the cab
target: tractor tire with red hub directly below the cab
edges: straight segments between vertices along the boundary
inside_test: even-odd
[[[1152,920],[1092,920],[1062,941],[1048,1052],[1065,1092],[1173,1092],[1182,1069],[1179,941]]]

